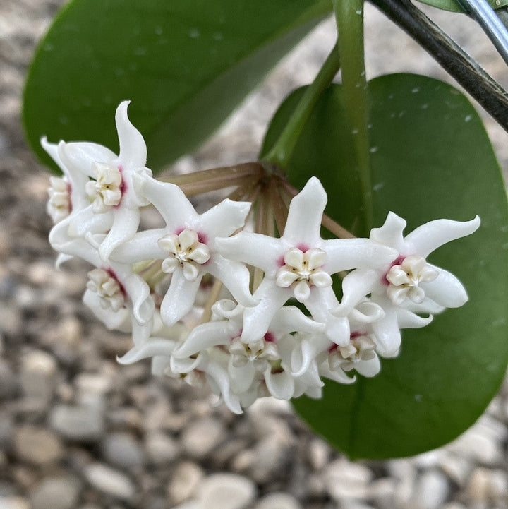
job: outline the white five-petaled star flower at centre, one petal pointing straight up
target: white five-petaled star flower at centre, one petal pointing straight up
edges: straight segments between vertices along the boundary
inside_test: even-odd
[[[327,195],[312,177],[291,200],[284,234],[279,239],[240,232],[218,239],[221,253],[231,260],[260,268],[265,277],[254,293],[260,302],[244,313],[242,340],[262,337],[277,310],[291,297],[306,306],[313,318],[326,326],[328,337],[340,345],[349,342],[349,325],[332,314],[338,301],[332,274],[352,268],[385,265],[397,252],[369,239],[331,239],[320,236]]]

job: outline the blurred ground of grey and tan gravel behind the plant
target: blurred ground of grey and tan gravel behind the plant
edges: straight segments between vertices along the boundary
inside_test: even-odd
[[[447,447],[350,462],[284,402],[261,400],[237,417],[212,409],[206,390],[152,378],[147,364],[116,364],[130,340],[108,333],[83,308],[85,265],[54,268],[48,176],[20,127],[26,66],[60,4],[0,1],[0,508],[508,507],[506,384]],[[507,85],[504,64],[475,25],[437,14]],[[370,77],[419,71],[446,78],[373,8],[367,21]],[[278,102],[312,79],[333,40],[333,25],[325,23],[179,167],[253,159]],[[488,129],[506,169],[506,135],[490,121]]]

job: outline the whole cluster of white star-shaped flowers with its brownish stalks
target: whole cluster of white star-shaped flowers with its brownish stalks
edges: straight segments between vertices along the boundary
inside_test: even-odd
[[[478,217],[404,236],[406,222],[390,212],[358,239],[323,215],[327,195],[314,176],[299,193],[258,163],[159,181],[127,107],[116,110],[119,155],[42,140],[63,172],[51,179],[49,241],[57,263],[92,266],[83,301],[107,328],[131,333],[122,364],[151,358],[154,373],[207,383],[241,413],[263,396],[318,398],[322,378],[375,376],[380,357],[397,356],[401,329],[467,301],[461,282],[427,257],[473,233]],[[229,197],[202,214],[188,200],[220,188]],[[140,230],[147,205],[163,227]],[[322,239],[322,224],[337,238]]]

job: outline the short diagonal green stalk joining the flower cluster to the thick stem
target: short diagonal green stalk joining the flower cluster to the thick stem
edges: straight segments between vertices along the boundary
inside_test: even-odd
[[[296,142],[303,131],[303,127],[313,110],[313,107],[319,99],[322,92],[332,83],[333,78],[339,72],[340,58],[337,44],[334,45],[332,51],[328,55],[325,63],[320,68],[319,73],[315,77],[306,91],[303,93],[300,102],[296,106],[291,118],[289,119],[284,131],[277,142],[273,145],[270,152],[262,158],[264,162],[274,164],[277,167],[285,169],[293,155]],[[267,171],[270,171],[269,167]]]

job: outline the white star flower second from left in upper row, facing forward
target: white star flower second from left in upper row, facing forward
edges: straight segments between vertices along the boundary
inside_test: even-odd
[[[255,304],[248,288],[246,266],[227,260],[217,250],[218,237],[227,237],[243,227],[250,203],[226,199],[200,215],[178,186],[150,177],[138,182],[166,227],[135,234],[112,253],[111,259],[122,263],[162,260],[162,270],[171,274],[161,304],[164,323],[172,325],[191,311],[201,279],[207,273],[222,281],[241,304]]]

